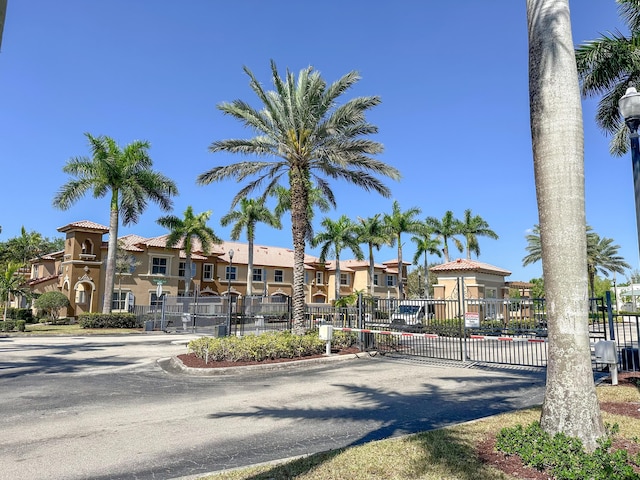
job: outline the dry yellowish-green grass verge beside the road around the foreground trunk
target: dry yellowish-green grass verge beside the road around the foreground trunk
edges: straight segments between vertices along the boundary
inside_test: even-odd
[[[598,387],[601,401],[619,401],[618,388]],[[640,392],[624,388],[624,401],[639,401]],[[631,395],[632,398],[629,398]],[[630,442],[640,431],[640,420],[602,412],[604,422],[618,423]],[[475,445],[501,428],[528,425],[540,419],[532,408],[442,430],[370,442],[294,460],[236,469],[202,480],[514,480],[480,461]]]

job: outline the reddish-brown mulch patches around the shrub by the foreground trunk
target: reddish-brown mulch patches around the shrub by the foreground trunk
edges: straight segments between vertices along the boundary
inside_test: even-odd
[[[604,383],[607,383],[605,381]],[[611,380],[608,380],[611,383]],[[639,388],[640,387],[640,373],[627,372],[618,374],[618,385],[620,388]],[[600,409],[604,412],[614,413],[616,415],[624,415],[627,417],[633,417],[640,419],[640,404],[639,403],[614,403],[603,402],[600,404]],[[481,443],[477,445],[476,452],[478,457],[486,464],[493,465],[495,468],[502,470],[503,472],[512,475],[516,478],[526,480],[550,480],[548,473],[540,472],[534,468],[527,467],[522,463],[520,457],[517,455],[505,455],[499,452],[495,448],[496,437],[495,434],[488,435]],[[640,453],[640,445],[636,442],[626,442],[620,439],[616,439],[613,442],[613,449],[624,449],[629,452],[630,456]],[[636,468],[636,470],[638,470]]]

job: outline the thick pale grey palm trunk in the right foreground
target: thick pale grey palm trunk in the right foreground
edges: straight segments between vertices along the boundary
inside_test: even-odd
[[[588,334],[582,111],[568,0],[527,0],[529,94],[548,317],[541,425],[593,450],[605,432]]]

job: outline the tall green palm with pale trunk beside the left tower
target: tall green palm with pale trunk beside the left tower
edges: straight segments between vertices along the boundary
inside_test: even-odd
[[[91,158],[75,157],[62,169],[76,177],[64,184],[53,199],[53,206],[67,210],[84,194],[92,190],[95,198],[110,195],[109,243],[104,278],[102,313],[111,312],[115,280],[118,224],[138,222],[151,200],[162,210],[171,210],[171,196],[178,194],[175,183],[151,169],[149,142],[136,140],[124,148],[109,137],[86,133]]]

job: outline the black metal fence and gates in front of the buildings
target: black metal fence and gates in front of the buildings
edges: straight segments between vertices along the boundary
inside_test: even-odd
[[[137,307],[145,328],[204,335],[247,335],[292,328],[291,301],[269,297],[165,297]],[[591,344],[615,340],[619,367],[640,370],[640,315],[614,315],[610,302],[592,299]],[[305,328],[332,325],[357,334],[361,348],[479,363],[545,367],[547,313],[544,299],[366,298],[355,305],[308,304]],[[594,368],[604,368],[596,363]]]

